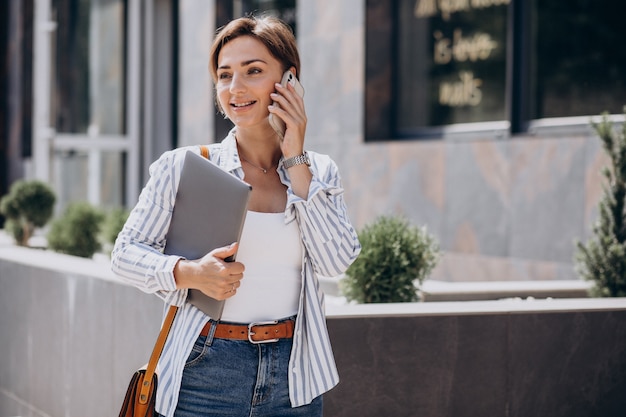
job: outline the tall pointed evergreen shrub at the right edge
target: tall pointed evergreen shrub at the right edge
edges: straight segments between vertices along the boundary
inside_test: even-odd
[[[604,114],[592,126],[611,165],[602,170],[604,193],[593,236],[586,244],[576,242],[574,262],[578,274],[594,282],[592,296],[626,297],[626,123],[618,133]]]

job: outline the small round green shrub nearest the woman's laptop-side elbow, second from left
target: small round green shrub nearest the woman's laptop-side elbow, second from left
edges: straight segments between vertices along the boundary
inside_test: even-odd
[[[52,222],[48,247],[55,252],[91,258],[102,248],[100,227],[104,214],[89,203],[72,203]]]

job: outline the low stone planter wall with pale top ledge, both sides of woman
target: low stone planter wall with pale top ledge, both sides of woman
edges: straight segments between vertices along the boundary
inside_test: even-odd
[[[626,409],[626,299],[331,304],[329,417],[612,417]],[[147,362],[160,301],[108,263],[0,245],[0,416],[110,417]]]

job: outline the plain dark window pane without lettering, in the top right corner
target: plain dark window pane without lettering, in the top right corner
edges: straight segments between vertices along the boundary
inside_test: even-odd
[[[621,114],[626,24],[620,0],[534,2],[533,119]]]

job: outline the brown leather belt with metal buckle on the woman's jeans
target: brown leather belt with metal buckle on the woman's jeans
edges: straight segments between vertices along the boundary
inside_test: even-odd
[[[204,325],[200,336],[208,336],[213,322]],[[293,337],[293,320],[269,321],[250,324],[218,323],[213,337],[218,339],[247,340],[250,343],[271,343]]]

